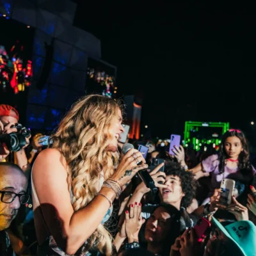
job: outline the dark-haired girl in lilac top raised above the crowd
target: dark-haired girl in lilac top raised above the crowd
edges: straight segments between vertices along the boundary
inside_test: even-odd
[[[223,134],[219,154],[207,157],[190,170],[196,179],[207,177],[211,173],[211,188],[220,188],[222,179],[234,179],[250,185],[255,169],[250,164],[248,142],[240,130],[232,129]],[[203,204],[206,204],[205,201]]]

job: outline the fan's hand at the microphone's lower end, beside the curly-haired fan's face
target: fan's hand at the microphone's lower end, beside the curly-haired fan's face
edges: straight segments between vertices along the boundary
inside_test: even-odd
[[[164,163],[161,163],[158,166],[156,166],[156,168],[154,168],[152,172],[149,173],[152,179],[154,180],[157,188],[167,188],[167,186],[164,185],[166,174],[164,172],[159,172],[160,168],[163,166]],[[163,182],[163,184],[160,184],[159,182]],[[144,182],[141,182],[138,185],[137,189],[138,191],[140,191],[140,193],[143,194],[148,193],[150,191],[150,188],[147,188]]]

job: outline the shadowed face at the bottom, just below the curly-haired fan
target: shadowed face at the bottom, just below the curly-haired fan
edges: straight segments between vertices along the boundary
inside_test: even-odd
[[[164,209],[164,207],[158,207],[147,221],[145,228],[145,239],[150,243],[161,243],[166,239],[166,236],[170,230],[171,216]]]

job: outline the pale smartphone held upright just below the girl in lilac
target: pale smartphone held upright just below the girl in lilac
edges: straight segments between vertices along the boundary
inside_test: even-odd
[[[232,202],[232,195],[234,193],[236,181],[232,179],[221,180],[220,188],[220,199],[219,202],[222,205],[230,205]]]

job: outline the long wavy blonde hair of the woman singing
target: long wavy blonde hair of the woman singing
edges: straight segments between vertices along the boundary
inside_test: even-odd
[[[88,95],[79,99],[61,120],[58,130],[51,137],[52,147],[58,148],[68,164],[72,177],[73,208],[77,211],[87,205],[99,192],[100,173],[108,179],[114,170],[113,159],[118,153],[106,150],[109,125],[116,118],[120,102],[100,95]],[[88,239],[86,250],[97,244],[100,252],[111,255],[112,237],[103,226]]]

